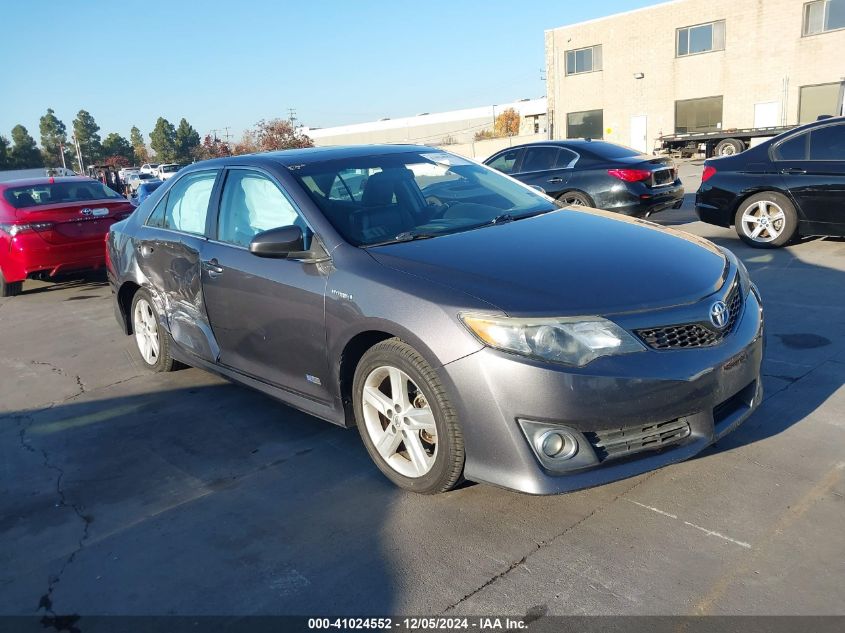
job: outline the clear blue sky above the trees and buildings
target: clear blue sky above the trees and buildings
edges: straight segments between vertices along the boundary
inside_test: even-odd
[[[543,31],[655,0],[2,0],[0,134],[48,107],[100,134],[317,127],[545,94]]]

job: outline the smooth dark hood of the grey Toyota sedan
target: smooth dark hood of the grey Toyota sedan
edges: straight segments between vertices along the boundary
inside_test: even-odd
[[[718,290],[728,270],[724,253],[707,240],[593,209],[564,209],[369,253],[384,266],[512,316],[685,305]]]

